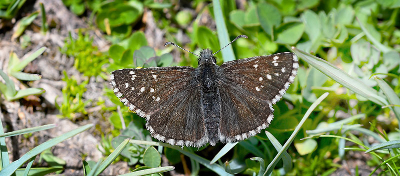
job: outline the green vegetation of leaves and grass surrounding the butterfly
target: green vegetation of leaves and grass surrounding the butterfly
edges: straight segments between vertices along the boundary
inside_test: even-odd
[[[23,2],[12,0],[0,4],[0,16],[12,18]],[[94,23],[88,29],[79,30],[76,38],[70,34],[60,49],[74,59],[74,68],[83,75],[83,81],[68,77],[64,71],[63,102],[56,107],[61,117],[79,121],[82,119],[77,119],[76,114],[89,115],[90,102],[101,108],[98,113],[111,126],[109,130],[96,127],[101,135],[98,150],[104,159],[83,160],[85,175],[99,175],[113,162],[122,161],[130,166],[130,176],[162,176],[160,173],[174,167],[177,173],[192,176],[327,176],[343,169],[343,160],[364,162],[362,166],[348,168],[355,175],[359,169],[371,175],[377,172],[400,175],[400,0],[250,0],[240,3],[195,0],[188,4],[169,0],[162,3],[63,0],[63,3],[73,13],[88,16]],[[180,148],[152,139],[145,129],[145,120],[120,103],[108,85],[103,89],[103,98],[111,105],[102,98],[84,100],[82,95],[90,78],[107,82],[109,72],[116,69],[197,66],[196,56],[176,47],[148,46],[153,43],[146,38],[151,36],[143,32],[143,28],[149,27],[144,26],[143,21],[148,12],[155,21],[153,27],[164,32],[163,42],[174,42],[194,53],[201,48],[216,51],[237,35],[248,36],[216,54],[217,64],[294,52],[299,57],[300,67],[283,100],[273,105],[274,119],[269,127],[255,137],[233,144]],[[44,11],[41,14],[45,16]],[[31,13],[19,20],[15,38],[22,36],[21,45],[25,28],[37,15],[38,12]],[[42,21],[45,21],[43,16]],[[45,22],[41,25],[42,32],[49,30]],[[107,51],[99,51],[93,43],[87,32],[93,28],[104,33],[110,43]],[[82,34],[81,31],[86,32]],[[182,40],[182,35],[190,42]],[[172,50],[179,52],[180,58],[173,58]],[[39,79],[37,75],[20,71],[42,52],[39,49],[22,61],[10,54],[9,69],[6,73],[0,70],[5,82],[0,82],[0,90],[6,100],[42,93],[42,90],[22,93],[36,88],[16,91],[7,76],[26,81]],[[181,60],[176,63],[174,59]],[[23,96],[18,96],[19,92]],[[63,136],[62,140],[72,133]],[[1,145],[5,137],[0,135]],[[1,151],[0,174],[22,172],[18,168],[27,161],[30,161],[26,167],[29,170],[34,157],[52,145],[55,143],[37,146],[31,150],[34,152],[22,157],[23,160],[9,165],[4,155],[6,151]],[[352,154],[366,156],[367,161]],[[48,153],[42,155],[47,157],[46,161],[57,161]],[[162,155],[170,167],[160,167]],[[59,162],[45,171],[60,172],[59,166],[62,170],[62,162]]]

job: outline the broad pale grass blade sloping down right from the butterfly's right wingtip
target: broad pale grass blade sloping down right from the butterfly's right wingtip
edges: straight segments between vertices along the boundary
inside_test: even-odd
[[[315,57],[295,47],[292,47],[292,50],[305,62],[312,65],[314,68],[316,68],[329,78],[333,79],[337,83],[341,84],[345,88],[350,89],[351,91],[367,98],[368,100],[378,105],[383,106],[387,104],[387,101],[382,98],[382,95],[380,93],[364,84],[361,80],[353,78],[343,70],[337,68],[336,66],[321,58]]]

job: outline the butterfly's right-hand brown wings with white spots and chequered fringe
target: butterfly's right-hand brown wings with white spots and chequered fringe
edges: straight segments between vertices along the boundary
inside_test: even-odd
[[[246,139],[266,128],[272,104],[286,92],[297,73],[297,57],[285,52],[225,62],[220,66],[220,140]]]

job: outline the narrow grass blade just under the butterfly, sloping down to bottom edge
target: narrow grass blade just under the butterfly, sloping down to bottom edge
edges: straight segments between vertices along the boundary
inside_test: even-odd
[[[206,159],[204,159],[204,158],[202,158],[202,157],[200,157],[200,156],[198,156],[198,155],[196,155],[194,153],[184,151],[184,150],[182,150],[182,149],[180,149],[179,147],[176,147],[176,146],[168,145],[168,146],[165,146],[165,147],[169,147],[169,148],[172,148],[172,149],[175,149],[175,150],[179,151],[183,155],[195,160],[196,162],[198,162],[199,164],[205,166],[206,168],[208,168],[209,170],[213,171],[214,173],[216,173],[219,176],[232,176],[231,174],[226,173],[224,168],[222,168],[221,166],[219,166],[219,165],[217,165],[215,163],[210,165],[209,164],[210,163],[209,160],[206,160]]]

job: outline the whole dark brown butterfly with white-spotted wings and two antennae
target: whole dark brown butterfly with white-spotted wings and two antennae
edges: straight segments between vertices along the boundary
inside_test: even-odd
[[[233,41],[241,37],[247,38],[239,35]],[[293,82],[297,56],[282,52],[218,66],[214,56],[217,52],[190,52],[198,57],[197,68],[115,70],[110,84],[129,110],[145,118],[146,129],[159,141],[199,148],[255,136],[271,123],[272,105]]]

